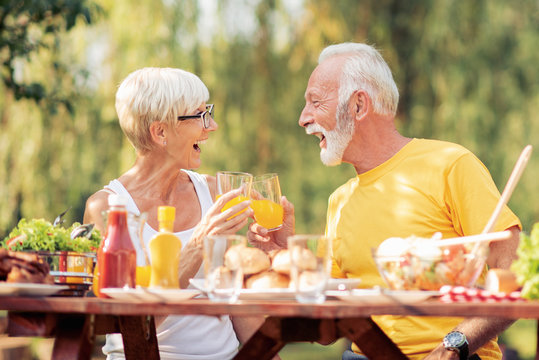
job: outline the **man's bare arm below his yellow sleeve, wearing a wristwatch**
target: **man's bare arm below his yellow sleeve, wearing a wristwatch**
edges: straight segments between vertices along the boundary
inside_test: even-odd
[[[517,226],[509,228],[511,238],[504,241],[493,241],[490,244],[490,253],[487,264],[490,268],[508,269],[511,263],[516,259],[516,250],[518,247],[520,229]],[[490,339],[494,338],[502,331],[507,329],[515,320],[504,318],[471,318],[461,322],[454,330],[462,332],[468,340],[470,355],[485,345]],[[439,344],[425,360],[434,359],[455,359],[459,356],[454,351],[446,350],[443,344]]]

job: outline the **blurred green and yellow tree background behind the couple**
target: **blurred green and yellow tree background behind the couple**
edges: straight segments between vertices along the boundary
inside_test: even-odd
[[[22,217],[52,221],[69,206],[67,221],[82,221],[86,198],[132,164],[114,95],[145,66],[201,77],[220,128],[199,171],[279,173],[298,232],[323,231],[329,194],[354,176],[323,166],[297,125],[329,44],[379,48],[401,92],[403,134],[468,147],[500,190],[522,148],[539,150],[536,0],[0,4],[0,239]],[[539,220],[538,177],[533,154],[509,203],[526,231]]]

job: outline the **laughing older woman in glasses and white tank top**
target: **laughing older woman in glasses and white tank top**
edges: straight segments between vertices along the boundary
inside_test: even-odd
[[[213,105],[206,103],[208,98],[202,81],[180,69],[144,68],[131,73],[116,93],[116,111],[123,132],[136,150],[135,164],[93,194],[84,213],[85,223],[104,230],[101,213],[108,208],[108,196],[126,196],[129,211],[148,214],[143,232],[147,246],[159,228],[158,206],[176,207],[174,232],[183,246],[178,275],[182,288],[200,273],[203,237],[235,233],[252,216],[249,201],[221,213],[223,205],[238,191],[214,202],[215,178],[188,170],[200,166],[202,145],[218,127],[212,117]],[[228,316],[157,319],[161,359],[229,359],[237,353],[238,339],[250,336],[253,322],[234,319],[233,323]],[[103,352],[107,359],[123,359],[121,335],[108,335]]]

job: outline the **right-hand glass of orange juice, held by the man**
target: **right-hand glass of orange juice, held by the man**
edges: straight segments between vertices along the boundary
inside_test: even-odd
[[[251,190],[251,208],[258,224],[269,231],[281,228],[284,211],[281,206],[281,186],[277,174],[255,176]]]

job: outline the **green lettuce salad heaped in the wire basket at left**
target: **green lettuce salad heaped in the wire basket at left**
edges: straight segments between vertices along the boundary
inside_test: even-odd
[[[73,223],[69,228],[53,225],[44,219],[21,219],[17,226],[2,241],[2,247],[12,251],[75,251],[95,252],[101,243],[101,233],[93,229],[90,237],[71,238]]]

